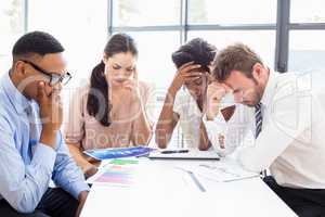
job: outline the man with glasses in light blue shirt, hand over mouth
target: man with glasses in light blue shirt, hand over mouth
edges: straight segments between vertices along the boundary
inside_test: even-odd
[[[0,80],[0,216],[78,216],[88,195],[60,132],[72,78],[63,51],[49,34],[26,34]]]

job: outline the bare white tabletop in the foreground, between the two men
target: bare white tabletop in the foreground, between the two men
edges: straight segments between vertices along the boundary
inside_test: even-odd
[[[197,161],[196,161],[197,163]],[[161,161],[153,164],[158,176],[140,188],[118,188],[93,184],[82,217],[197,217],[197,216],[285,216],[296,214],[269,189],[260,178],[232,182],[205,182],[206,192],[170,186],[172,175],[165,177],[162,165],[183,164],[177,161]],[[160,173],[161,171],[161,173]],[[181,170],[179,173],[182,173]],[[185,184],[184,184],[185,186]]]

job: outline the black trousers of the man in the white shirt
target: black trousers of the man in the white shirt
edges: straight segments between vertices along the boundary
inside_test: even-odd
[[[281,187],[271,176],[264,182],[300,217],[325,217],[325,189]]]

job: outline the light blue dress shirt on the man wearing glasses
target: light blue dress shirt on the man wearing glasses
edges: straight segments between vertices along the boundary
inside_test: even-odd
[[[17,90],[9,73],[0,79],[0,200],[17,212],[31,213],[51,180],[76,199],[89,190],[61,132],[56,135],[55,150],[39,142],[39,106]],[[35,117],[32,133],[30,112]]]

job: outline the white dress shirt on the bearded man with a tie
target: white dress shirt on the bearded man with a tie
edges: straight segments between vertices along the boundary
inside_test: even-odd
[[[313,74],[270,73],[261,99],[262,131],[251,145],[236,149],[245,168],[270,168],[284,187],[325,189],[325,86],[315,85],[320,82],[314,78]],[[255,131],[253,107],[238,108],[225,124],[227,153],[239,146],[248,131]],[[218,143],[211,137],[220,128],[218,122],[205,124],[210,141]]]

